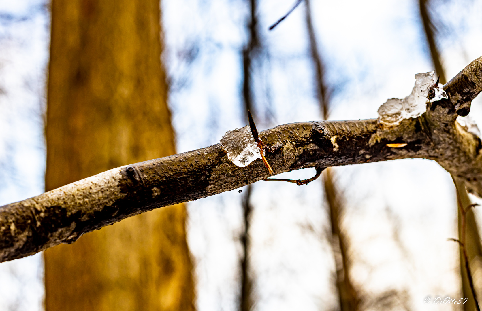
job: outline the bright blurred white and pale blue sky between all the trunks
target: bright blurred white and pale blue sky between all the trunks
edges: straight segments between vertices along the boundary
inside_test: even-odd
[[[310,4],[331,90],[331,119],[376,117],[387,98],[410,93],[415,73],[434,69],[418,1]],[[292,5],[258,2],[260,49],[251,66],[258,129],[323,117],[305,3],[268,31]],[[227,130],[246,125],[243,49],[250,39],[250,1],[164,0],[161,13],[176,151],[217,143]],[[478,0],[430,1],[447,78],[482,55],[481,13]],[[49,38],[48,2],[0,2],[0,205],[44,191]],[[482,124],[480,99],[470,116]],[[309,178],[313,171],[286,178]],[[343,194],[350,277],[366,307],[451,309],[424,304],[429,296],[461,297],[458,246],[447,242],[457,235],[450,175],[421,159],[335,168],[333,175]],[[246,188],[187,205],[200,311],[238,309]],[[322,189],[321,181],[301,187],[258,182],[249,191],[256,310],[338,305]],[[480,212],[476,215],[480,220]],[[42,309],[42,267],[40,254],[0,265],[0,310]],[[482,269],[474,271],[474,279],[482,294]]]

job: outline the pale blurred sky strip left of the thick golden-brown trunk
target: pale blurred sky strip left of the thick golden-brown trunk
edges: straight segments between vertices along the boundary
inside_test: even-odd
[[[0,0],[0,205],[44,189],[49,23],[43,1]],[[0,280],[1,311],[41,310],[41,254],[0,264]]]

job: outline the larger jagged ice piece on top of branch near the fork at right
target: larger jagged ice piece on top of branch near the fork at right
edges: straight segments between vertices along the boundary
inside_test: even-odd
[[[427,102],[448,98],[445,91],[435,84],[434,72],[415,75],[415,86],[412,93],[404,99],[391,98],[378,108],[378,121],[388,126],[400,124],[403,119],[420,117],[427,111]],[[433,86],[433,87],[432,87]],[[432,87],[435,97],[428,100],[428,91]]]

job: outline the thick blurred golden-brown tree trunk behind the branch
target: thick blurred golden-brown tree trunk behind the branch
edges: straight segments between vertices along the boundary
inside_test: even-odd
[[[159,0],[53,0],[46,190],[175,153]],[[47,311],[194,310],[186,208],[48,249]]]

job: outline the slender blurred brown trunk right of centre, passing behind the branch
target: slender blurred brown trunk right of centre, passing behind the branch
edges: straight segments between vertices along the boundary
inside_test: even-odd
[[[311,21],[311,8],[309,0],[305,0],[305,4],[311,57],[315,65],[317,97],[320,103],[321,117],[326,120],[330,111],[330,96],[328,94],[328,87],[323,77],[324,66],[318,48],[313,23]],[[330,168],[326,168],[322,176],[326,203],[328,204],[330,214],[330,227],[332,234],[330,242],[335,257],[336,289],[338,291],[340,310],[358,311],[360,310],[359,305],[362,299],[360,298],[358,290],[353,285],[349,273],[351,268],[351,262],[348,258],[349,238],[347,234],[341,230],[341,215],[343,214],[344,210],[343,198],[340,197],[340,193],[336,189],[332,170]]]

